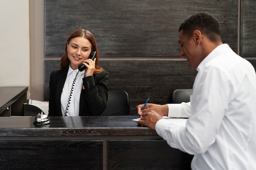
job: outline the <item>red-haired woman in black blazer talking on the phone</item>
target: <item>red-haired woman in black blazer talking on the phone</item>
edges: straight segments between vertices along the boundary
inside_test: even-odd
[[[96,51],[93,60],[89,59]],[[79,71],[79,65],[85,66]],[[90,31],[70,34],[61,57],[61,70],[50,76],[49,116],[97,116],[106,108],[108,73],[99,66],[99,53]]]

